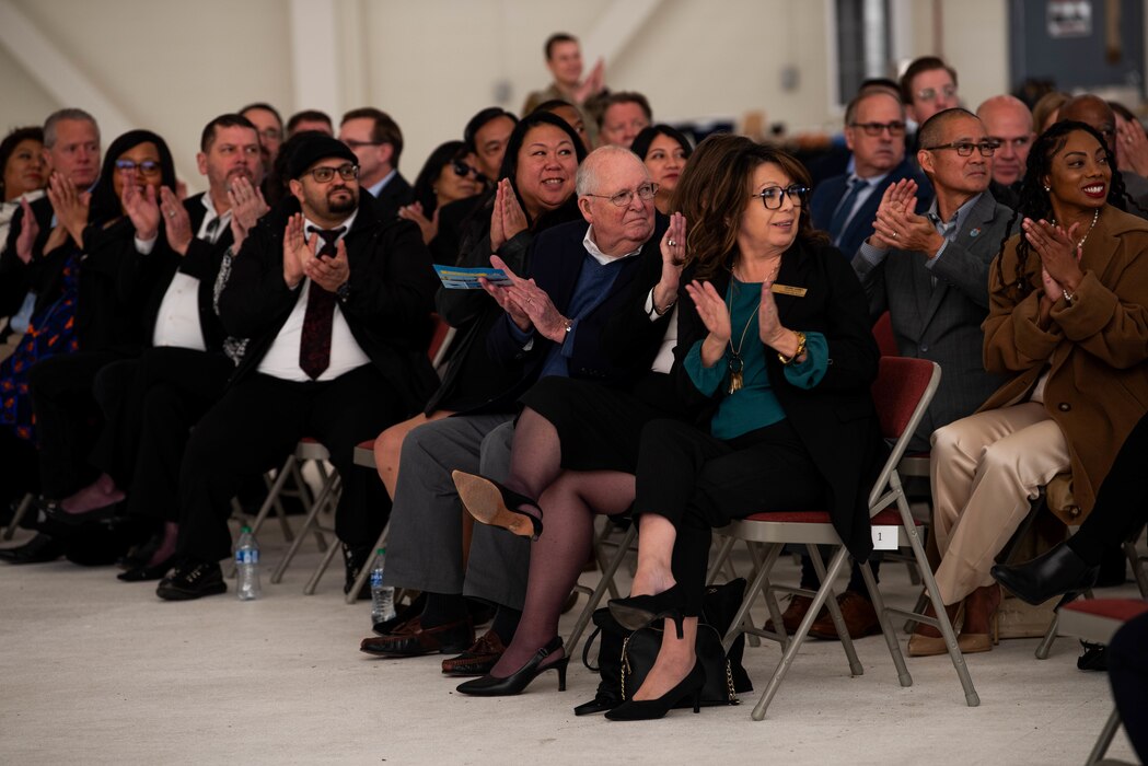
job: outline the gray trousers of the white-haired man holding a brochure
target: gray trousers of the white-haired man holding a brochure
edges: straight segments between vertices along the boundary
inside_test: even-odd
[[[522,609],[530,541],[505,529],[474,526],[463,567],[463,510],[451,471],[504,481],[510,473],[512,415],[444,418],[403,440],[398,485],[390,512],[383,583],[441,594],[464,594]]]

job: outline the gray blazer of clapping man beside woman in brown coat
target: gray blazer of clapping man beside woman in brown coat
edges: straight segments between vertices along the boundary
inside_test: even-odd
[[[877,266],[860,254],[853,257],[870,315],[876,319],[889,311],[901,355],[930,359],[941,367],[940,387],[910,450],[928,450],[933,431],[972,415],[1003,384],[1000,376],[985,372],[980,323],[988,316],[988,266],[1001,249],[1011,216],[1009,208],[985,192],[932,269],[917,252],[890,250]]]

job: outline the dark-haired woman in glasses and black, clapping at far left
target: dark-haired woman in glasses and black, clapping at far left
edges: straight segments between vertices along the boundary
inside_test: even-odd
[[[137,355],[146,342],[149,271],[137,268],[134,254],[168,247],[161,185],[174,192],[174,165],[166,144],[150,131],[113,141],[91,198],[52,179],[48,194],[59,225],[34,264],[37,303],[29,330],[0,366],[0,417],[29,447],[39,441],[40,490],[53,509],[63,501],[64,512],[83,512],[123,498],[108,477],[96,478],[86,464],[98,411],[92,384],[101,367]],[[77,498],[93,478],[98,492]]]

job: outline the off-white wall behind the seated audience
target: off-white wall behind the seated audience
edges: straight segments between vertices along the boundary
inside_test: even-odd
[[[550,32],[587,40],[589,65],[600,53],[590,47],[602,39],[597,24],[620,10],[615,3],[634,0],[324,0],[320,10],[310,6],[307,13],[333,15],[334,42],[302,29],[305,42],[293,52],[292,3],[316,1],[0,0],[0,9],[26,16],[131,125],[164,136],[195,188],[193,157],[208,119],[256,100],[285,116],[315,106],[295,102],[296,56],[323,65],[335,57],[338,82],[321,100],[332,111],[372,105],[395,117],[406,137],[402,169],[413,179],[430,149],[459,137],[466,119],[499,92],[509,92],[503,106],[517,111],[528,91],[548,83],[542,42]],[[827,49],[831,2],[653,5],[641,33],[607,60],[611,87],[644,92],[665,119],[763,110],[794,130],[837,127]],[[1006,0],[936,5],[944,54],[960,71],[967,102],[975,107],[1003,92]],[[907,55],[932,53],[934,3],[899,7],[913,14]],[[793,91],[782,87],[783,67],[798,72]],[[37,68],[0,45],[0,129],[40,123],[63,106],[29,71]]]

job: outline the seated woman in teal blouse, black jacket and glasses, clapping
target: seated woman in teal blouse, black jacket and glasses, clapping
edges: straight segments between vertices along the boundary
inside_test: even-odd
[[[872,549],[867,494],[887,454],[869,393],[879,353],[848,261],[809,222],[808,191],[797,160],[735,136],[699,145],[678,185],[692,225],[676,374],[703,417],[642,434],[638,566],[611,611],[626,627],[669,621],[642,687],[607,718],[661,717],[705,682],[693,644],[713,527],[825,509],[854,557]]]

